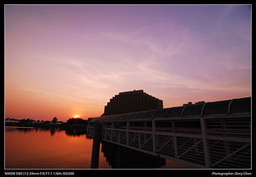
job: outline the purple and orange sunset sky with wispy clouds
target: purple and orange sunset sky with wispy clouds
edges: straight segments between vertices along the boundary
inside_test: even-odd
[[[123,91],[163,107],[251,96],[248,5],[5,5],[5,117],[101,116]]]

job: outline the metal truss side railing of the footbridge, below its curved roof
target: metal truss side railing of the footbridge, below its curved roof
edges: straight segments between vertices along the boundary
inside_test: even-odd
[[[251,115],[94,119],[102,140],[198,168],[251,168]],[[93,124],[88,125],[93,137]]]

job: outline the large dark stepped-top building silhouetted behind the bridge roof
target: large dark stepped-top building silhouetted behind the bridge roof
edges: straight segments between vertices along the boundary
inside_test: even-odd
[[[102,116],[155,109],[163,109],[163,101],[148,95],[143,90],[125,91],[110,99]]]

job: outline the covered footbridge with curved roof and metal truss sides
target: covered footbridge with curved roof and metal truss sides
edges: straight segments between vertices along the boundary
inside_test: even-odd
[[[101,116],[88,136],[98,127],[101,140],[195,168],[251,168],[250,97]]]

